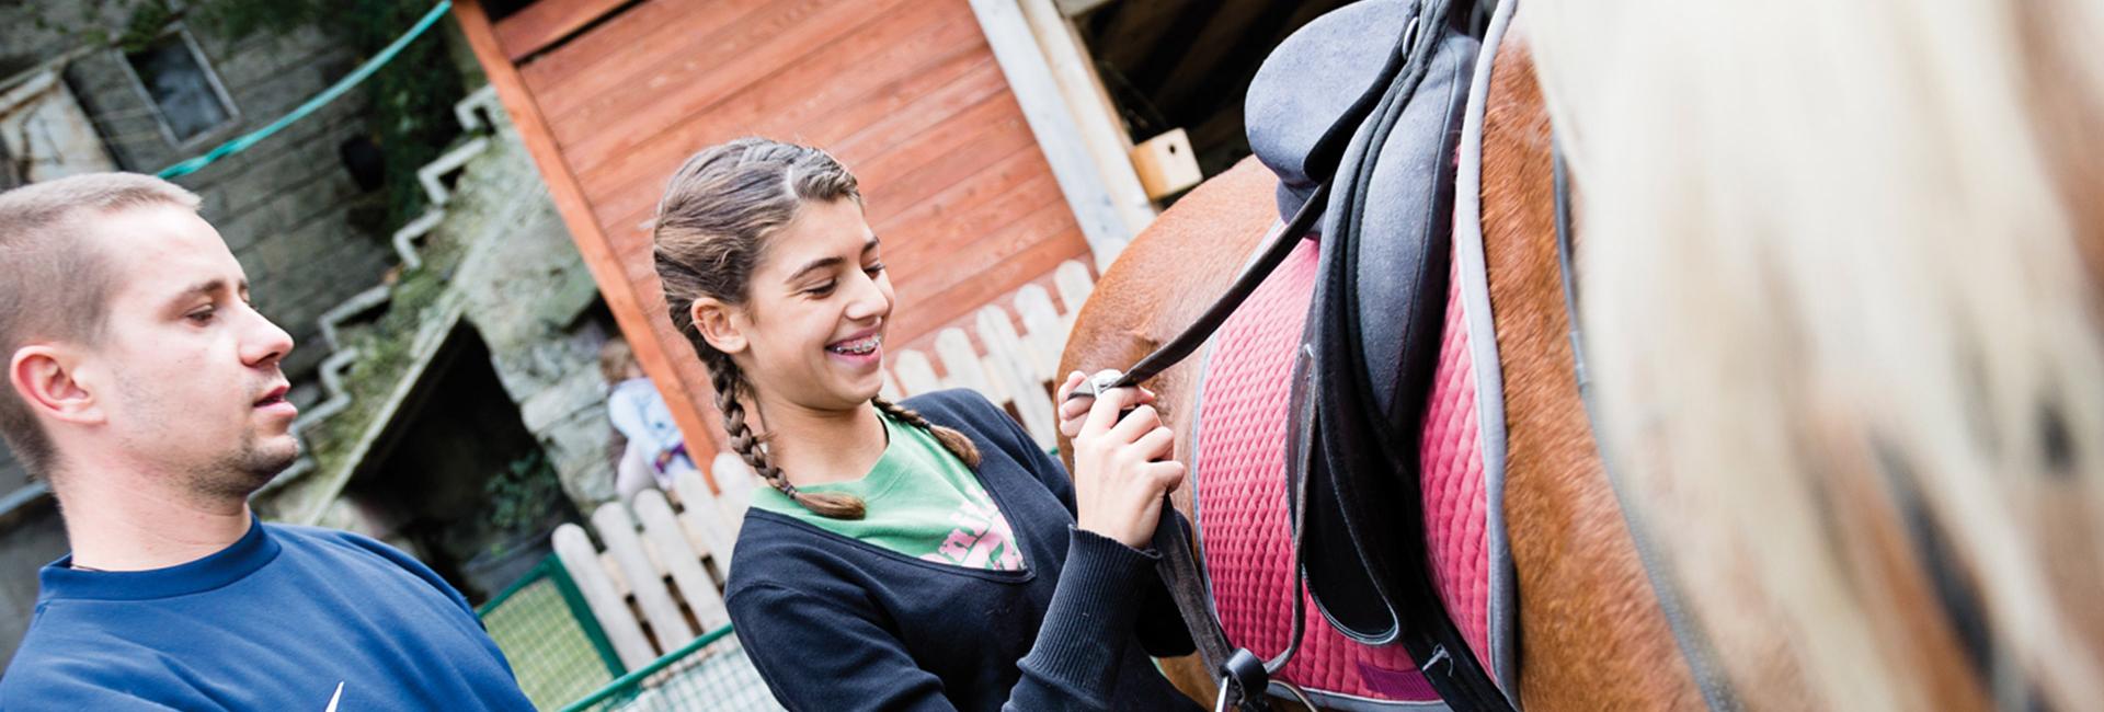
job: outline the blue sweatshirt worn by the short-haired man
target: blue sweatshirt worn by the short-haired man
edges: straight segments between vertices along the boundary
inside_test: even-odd
[[[356,533],[252,523],[185,565],[38,580],[0,710],[532,710],[467,601]]]

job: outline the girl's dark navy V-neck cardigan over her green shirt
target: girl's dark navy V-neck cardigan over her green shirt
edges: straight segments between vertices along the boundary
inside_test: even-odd
[[[1155,670],[1191,636],[1155,554],[1073,529],[1073,485],[970,391],[905,403],[978,445],[1023,571],[913,559],[751,508],[728,603],[789,710],[1195,710]]]

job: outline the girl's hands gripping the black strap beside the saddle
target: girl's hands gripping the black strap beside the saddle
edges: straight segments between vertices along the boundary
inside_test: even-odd
[[[1071,376],[1067,380],[1073,382]],[[1185,477],[1182,462],[1170,460],[1176,435],[1161,426],[1153,405],[1142,405],[1151,399],[1138,389],[1109,391],[1090,403],[1073,433],[1077,527],[1132,548],[1147,548],[1153,540],[1161,496],[1182,485]],[[1136,410],[1119,420],[1117,412],[1126,407]]]

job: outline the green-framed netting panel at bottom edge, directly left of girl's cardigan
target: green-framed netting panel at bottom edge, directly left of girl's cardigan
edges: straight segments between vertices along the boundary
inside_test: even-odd
[[[562,712],[781,710],[730,626],[629,672]]]

